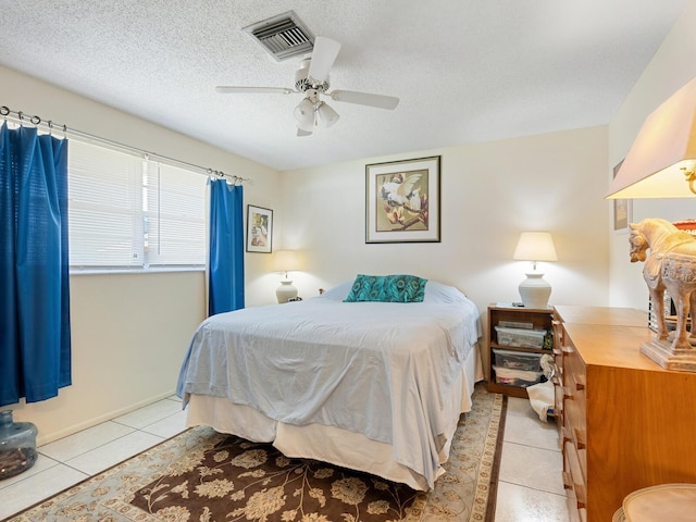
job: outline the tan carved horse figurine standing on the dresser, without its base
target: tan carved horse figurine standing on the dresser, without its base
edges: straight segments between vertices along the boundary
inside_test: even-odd
[[[696,312],[696,238],[666,220],[648,219],[629,226],[631,262],[645,261],[643,277],[655,307],[657,341],[668,344],[663,300],[667,289],[676,309],[676,330],[669,351],[692,357],[696,350],[688,339],[696,337],[696,328],[692,327],[687,336],[686,323],[691,314],[694,324]]]

